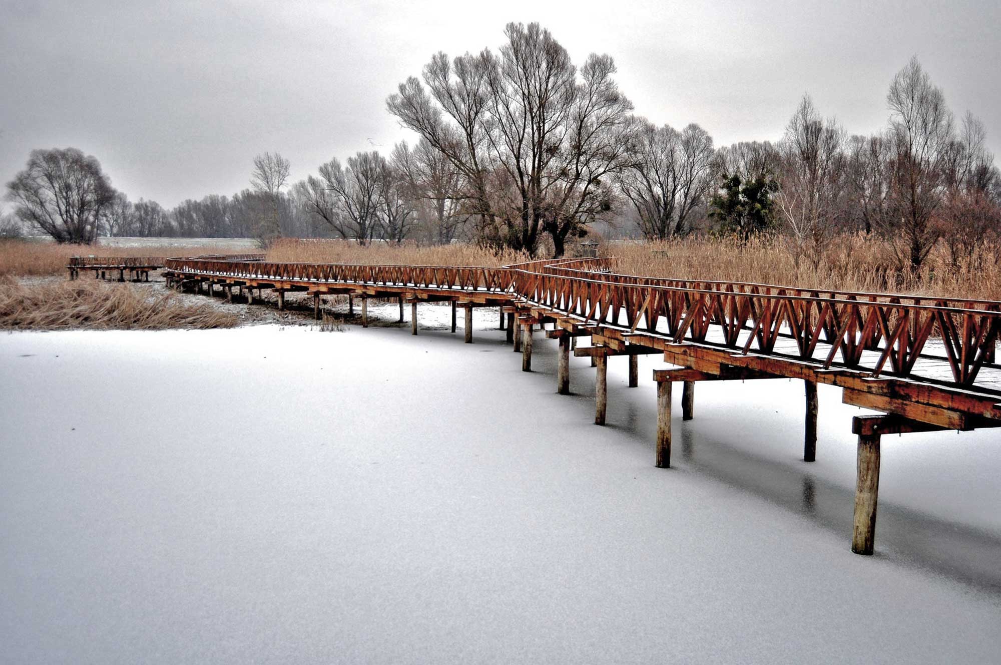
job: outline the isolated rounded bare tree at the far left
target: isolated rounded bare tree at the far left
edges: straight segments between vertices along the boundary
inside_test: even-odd
[[[18,218],[57,242],[93,242],[115,195],[97,159],[76,148],[32,150],[7,189]]]

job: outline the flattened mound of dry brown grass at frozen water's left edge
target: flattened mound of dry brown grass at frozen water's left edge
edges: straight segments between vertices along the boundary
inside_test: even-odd
[[[149,293],[130,284],[92,281],[25,285],[0,276],[0,328],[15,330],[232,327],[236,314],[174,292]]]

